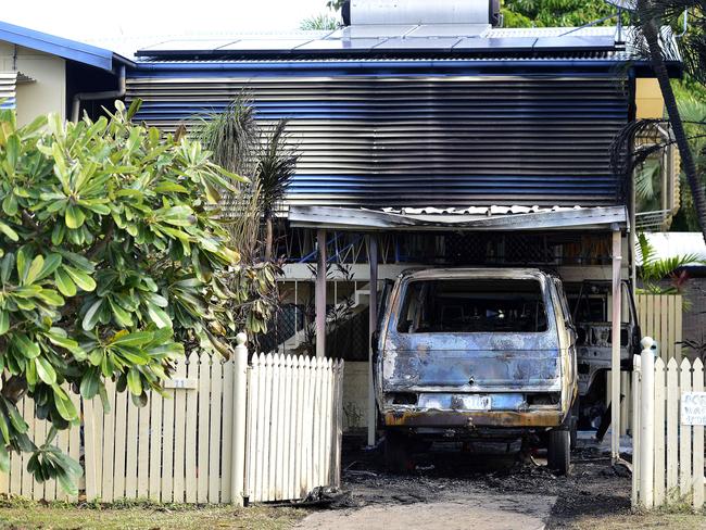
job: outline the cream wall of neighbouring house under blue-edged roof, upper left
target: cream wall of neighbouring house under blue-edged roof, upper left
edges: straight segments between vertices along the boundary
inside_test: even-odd
[[[16,70],[35,79],[17,86],[17,123],[30,123],[49,112],[66,115],[66,61],[8,42],[0,42],[0,70]]]

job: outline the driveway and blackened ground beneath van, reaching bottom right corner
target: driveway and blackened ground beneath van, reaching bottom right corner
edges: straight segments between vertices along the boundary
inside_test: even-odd
[[[519,462],[517,454],[459,452],[417,457],[413,472],[392,476],[376,452],[348,449],[342,478],[349,494],[298,528],[706,530],[703,515],[632,514],[630,474],[614,469],[597,447],[575,452],[569,477],[554,476],[541,456]]]

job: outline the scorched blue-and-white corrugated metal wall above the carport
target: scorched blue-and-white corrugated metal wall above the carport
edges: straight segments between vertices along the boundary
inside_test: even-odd
[[[608,148],[628,97],[615,77],[189,75],[128,79],[137,119],[173,129],[250,91],[260,119],[291,121],[290,204],[619,202]]]

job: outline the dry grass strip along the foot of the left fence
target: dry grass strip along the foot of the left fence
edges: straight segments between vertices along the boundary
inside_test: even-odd
[[[162,530],[249,529],[282,530],[306,515],[293,507],[192,506],[125,502],[113,505],[38,503],[22,499],[0,501],[0,529]]]

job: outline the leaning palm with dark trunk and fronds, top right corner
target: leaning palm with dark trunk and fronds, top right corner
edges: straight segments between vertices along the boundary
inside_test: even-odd
[[[638,34],[644,37],[644,43],[647,48],[646,51],[652,63],[652,68],[657,77],[657,81],[659,83],[659,89],[663,99],[665,100],[665,106],[669,116],[675,142],[679,148],[682,171],[684,172],[686,182],[691,189],[698,224],[701,225],[704,241],[706,241],[706,195],[704,194],[704,188],[698,178],[696,164],[694,163],[691,146],[689,144],[689,137],[684,130],[684,124],[677,106],[677,98],[675,97],[675,91],[671,87],[671,81],[667,72],[667,61],[665,55],[669,51],[669,46],[667,43],[668,39],[664,38],[661,33],[663,24],[675,22],[675,20],[678,18],[686,9],[693,8],[698,10],[702,7],[702,0],[636,0],[635,13],[638,17],[635,21],[635,27]],[[703,40],[704,34],[701,30],[698,34]],[[692,42],[694,43],[694,47],[698,46],[698,41]],[[689,41],[686,43],[689,43]],[[704,43],[702,42],[701,46],[704,46]],[[695,50],[693,48],[688,50],[688,59],[694,58],[694,52]],[[701,63],[702,60],[703,59],[699,58],[697,64]],[[692,66],[690,70],[693,71],[694,63],[692,61],[688,60],[686,65]]]

